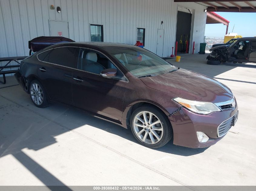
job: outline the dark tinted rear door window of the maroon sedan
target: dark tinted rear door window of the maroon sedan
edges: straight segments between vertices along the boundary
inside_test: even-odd
[[[78,48],[61,47],[55,48],[49,54],[48,62],[70,68],[74,68],[78,62]]]

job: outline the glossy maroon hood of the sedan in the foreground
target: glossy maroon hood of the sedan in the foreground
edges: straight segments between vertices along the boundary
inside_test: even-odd
[[[149,88],[187,100],[218,103],[233,97],[231,90],[219,81],[185,69],[140,79]]]

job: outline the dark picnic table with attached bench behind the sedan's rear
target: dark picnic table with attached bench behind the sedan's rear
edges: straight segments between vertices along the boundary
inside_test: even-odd
[[[18,60],[24,60],[27,56],[16,56],[16,57],[4,57],[4,58],[0,58],[0,62],[4,62],[4,61],[8,61],[8,63],[4,66],[0,66],[0,75],[3,75],[4,81],[0,81],[0,83],[5,84],[6,83],[6,78],[5,75],[6,74],[13,74],[18,72],[18,69],[14,69],[14,70],[4,70],[4,68],[17,68],[20,67],[20,63],[18,62]],[[10,62],[17,62],[18,65],[8,65]]]

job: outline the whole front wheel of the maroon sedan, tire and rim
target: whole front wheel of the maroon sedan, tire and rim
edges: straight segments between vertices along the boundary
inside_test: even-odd
[[[171,123],[167,116],[157,108],[143,106],[131,115],[131,131],[142,145],[159,148],[172,138]]]

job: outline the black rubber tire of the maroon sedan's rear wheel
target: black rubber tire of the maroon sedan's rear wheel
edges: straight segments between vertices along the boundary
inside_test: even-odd
[[[36,92],[35,88],[34,88],[35,84],[37,84],[42,91],[40,91],[40,89],[38,88],[38,92]],[[40,92],[42,92],[42,93],[40,94]],[[33,95],[33,93],[35,95]],[[34,105],[36,107],[42,108],[42,107],[47,107],[49,105],[45,89],[38,80],[33,80],[30,83],[30,85],[29,85],[29,96],[30,96],[30,99],[32,100],[32,102],[34,103]],[[43,99],[41,99],[41,97]],[[36,100],[38,100],[38,101],[36,101]],[[39,104],[37,104],[36,102],[39,103]]]

